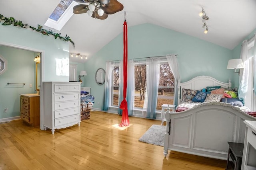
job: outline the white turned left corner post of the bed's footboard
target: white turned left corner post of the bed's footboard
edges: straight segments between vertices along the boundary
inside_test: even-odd
[[[168,154],[168,143],[169,143],[169,135],[170,135],[170,107],[168,105],[167,111],[164,113],[164,117],[166,119],[166,129],[164,133],[164,157]]]

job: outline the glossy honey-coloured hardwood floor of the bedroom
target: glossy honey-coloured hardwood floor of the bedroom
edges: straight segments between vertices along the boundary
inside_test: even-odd
[[[80,127],[42,131],[22,120],[0,124],[0,170],[224,170],[226,161],[168,151],[138,139],[161,121],[91,111]]]

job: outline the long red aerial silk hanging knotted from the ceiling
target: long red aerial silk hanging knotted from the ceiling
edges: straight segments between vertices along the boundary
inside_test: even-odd
[[[127,63],[128,63],[128,47],[127,47],[127,23],[124,21],[124,91],[123,91],[123,101],[120,104],[120,109],[122,109],[122,121],[119,124],[120,127],[129,126],[130,121],[128,117],[127,101],[126,101],[126,90],[127,90]]]

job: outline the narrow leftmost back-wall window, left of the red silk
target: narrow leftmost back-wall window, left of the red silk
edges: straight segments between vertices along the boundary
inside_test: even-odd
[[[119,66],[114,66],[112,74],[112,106],[119,106]]]

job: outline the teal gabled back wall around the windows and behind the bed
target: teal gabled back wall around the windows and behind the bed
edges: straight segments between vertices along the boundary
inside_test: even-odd
[[[128,59],[167,54],[178,54],[182,82],[201,75],[228,82],[233,76],[233,71],[226,69],[228,60],[233,58],[230,49],[149,23],[128,27]],[[122,58],[123,33],[120,33],[85,63],[88,74],[85,85],[92,87],[94,107],[102,108],[104,96],[104,86],[99,86],[94,80],[96,70],[106,69],[106,61]]]

